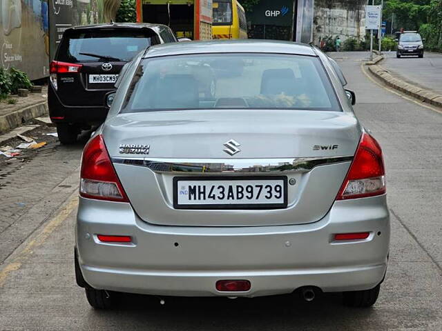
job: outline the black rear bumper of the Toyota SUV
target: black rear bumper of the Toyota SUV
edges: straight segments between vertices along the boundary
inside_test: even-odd
[[[64,105],[51,83],[48,83],[48,108],[52,123],[97,125],[103,123],[108,114],[106,107]]]

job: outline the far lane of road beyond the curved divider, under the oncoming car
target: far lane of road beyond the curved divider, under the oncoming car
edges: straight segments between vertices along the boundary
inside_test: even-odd
[[[442,53],[425,52],[423,59],[419,57],[396,58],[396,52],[384,52],[385,60],[381,66],[407,83],[422,88],[429,88],[442,94]]]

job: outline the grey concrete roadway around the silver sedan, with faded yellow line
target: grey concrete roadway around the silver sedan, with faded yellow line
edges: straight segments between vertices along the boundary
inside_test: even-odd
[[[127,295],[115,310],[91,309],[75,285],[72,259],[82,143],[70,148],[51,143],[47,150],[58,157],[37,154],[20,168],[26,177],[41,162],[41,173],[28,177],[29,185],[51,184],[35,192],[42,198],[8,227],[15,231],[0,234],[0,242],[15,243],[0,246],[8,251],[0,266],[0,330],[442,330],[442,114],[377,86],[361,70],[366,53],[332,56],[356,92],[356,114],[385,153],[392,246],[374,308],[345,308],[338,294],[327,294],[311,303],[284,296],[167,298],[165,305],[155,297]],[[56,179],[46,176],[63,161],[70,167],[56,168]],[[3,200],[15,173],[1,171]],[[32,233],[21,234],[22,227]]]

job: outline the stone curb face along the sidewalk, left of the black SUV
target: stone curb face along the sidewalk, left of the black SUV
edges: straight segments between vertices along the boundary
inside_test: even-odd
[[[30,119],[41,117],[46,114],[48,114],[48,103],[46,101],[41,101],[34,105],[16,110],[10,114],[3,115],[0,117],[0,132],[7,132],[15,129]]]

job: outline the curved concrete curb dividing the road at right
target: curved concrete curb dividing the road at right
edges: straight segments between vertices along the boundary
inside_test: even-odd
[[[383,59],[383,57],[381,57]],[[379,60],[381,61],[381,60]],[[374,62],[374,61],[373,61]],[[377,63],[377,62],[376,62]],[[367,63],[369,64],[369,63]],[[419,86],[414,86],[410,83],[406,83],[405,81],[401,79],[397,79],[390,74],[390,72],[383,68],[382,66],[379,66],[375,63],[368,66],[368,70],[374,74],[378,79],[381,79],[384,83],[386,83],[388,86],[391,86],[395,90],[399,90],[401,92],[404,92],[405,94],[408,94],[416,99],[419,99],[425,103],[430,103],[433,106],[438,106],[442,108],[442,95],[436,94],[434,92],[431,92],[429,90],[426,90],[425,88],[421,88]]]

